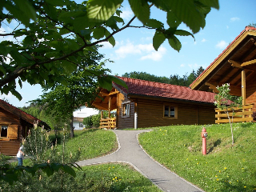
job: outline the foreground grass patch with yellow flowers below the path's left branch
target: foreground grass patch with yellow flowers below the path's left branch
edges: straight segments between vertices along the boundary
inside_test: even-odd
[[[83,166],[82,170],[86,173],[84,178],[86,186],[82,187],[82,191],[162,191],[130,165],[107,163]]]

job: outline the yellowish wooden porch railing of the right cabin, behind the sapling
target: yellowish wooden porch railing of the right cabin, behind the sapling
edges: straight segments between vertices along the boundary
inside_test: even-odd
[[[235,113],[233,117],[233,122],[253,122],[253,104],[247,104],[242,106],[242,108],[234,108]],[[229,122],[229,119],[227,117],[227,114],[225,113],[225,110],[219,110],[218,108],[215,109],[215,123],[226,123]],[[232,118],[233,110],[229,109],[229,116]],[[231,120],[232,121],[232,120]]]

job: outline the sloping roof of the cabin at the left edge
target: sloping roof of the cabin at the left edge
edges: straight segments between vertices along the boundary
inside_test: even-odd
[[[35,121],[38,121],[39,126],[43,125],[46,130],[50,130],[50,126],[48,126],[46,122],[43,122],[38,118],[34,118],[32,115],[27,114],[23,110],[20,110],[17,107],[10,105],[10,103],[5,102],[2,99],[0,99],[0,107],[4,110],[7,110],[11,114],[18,116],[19,118],[24,119],[26,122],[29,122],[32,125],[34,124]]]

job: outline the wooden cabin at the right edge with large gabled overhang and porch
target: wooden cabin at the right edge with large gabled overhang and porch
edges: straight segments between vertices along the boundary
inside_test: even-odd
[[[242,96],[242,111],[235,122],[251,122],[256,111],[256,28],[246,26],[190,85],[192,90],[218,93],[217,86],[230,84],[230,94]],[[216,109],[216,112],[219,111]],[[224,115],[224,114],[223,114]],[[216,114],[216,123],[227,122]],[[242,116],[242,118],[241,118]]]

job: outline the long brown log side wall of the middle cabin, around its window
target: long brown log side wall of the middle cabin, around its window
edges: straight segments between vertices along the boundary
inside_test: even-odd
[[[178,118],[163,118],[163,105],[177,106]],[[214,105],[203,106],[182,102],[164,102],[138,99],[138,128],[171,125],[214,123]]]

